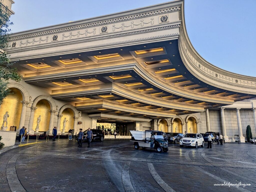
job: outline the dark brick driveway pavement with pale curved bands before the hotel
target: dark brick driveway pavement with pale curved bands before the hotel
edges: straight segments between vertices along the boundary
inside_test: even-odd
[[[157,153],[128,139],[38,143],[0,155],[0,191],[256,191],[256,146],[169,144]]]

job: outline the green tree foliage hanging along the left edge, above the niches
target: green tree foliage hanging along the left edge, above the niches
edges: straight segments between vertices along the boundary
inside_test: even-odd
[[[7,48],[9,26],[13,24],[9,17],[7,7],[4,7],[0,2],[0,105],[10,93],[7,87],[8,80],[19,82],[22,79],[17,69],[12,67],[15,62],[10,62],[6,52],[4,52],[4,49]]]

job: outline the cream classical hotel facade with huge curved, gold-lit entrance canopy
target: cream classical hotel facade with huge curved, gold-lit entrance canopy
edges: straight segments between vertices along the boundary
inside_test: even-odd
[[[256,78],[215,67],[191,45],[184,1],[18,32],[5,50],[23,75],[1,105],[31,134],[95,128],[255,135]],[[239,102],[247,99],[247,102]],[[240,105],[241,104],[241,105]],[[250,105],[250,106],[249,106]],[[224,109],[225,108],[225,109]],[[251,111],[251,109],[253,109]],[[79,123],[78,123],[79,122]]]

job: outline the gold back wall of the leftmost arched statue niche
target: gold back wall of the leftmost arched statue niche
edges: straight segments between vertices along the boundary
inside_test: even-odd
[[[0,107],[0,123],[3,124],[3,117],[6,111],[9,113],[7,118],[7,131],[10,131],[10,126],[16,126],[16,130],[19,128],[20,115],[22,110],[22,104],[20,101],[23,100],[22,94],[17,88],[10,88],[11,94],[9,94]]]

